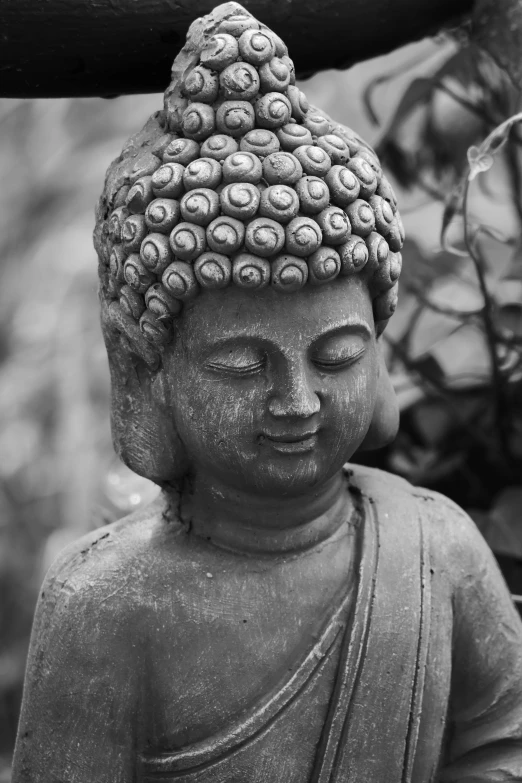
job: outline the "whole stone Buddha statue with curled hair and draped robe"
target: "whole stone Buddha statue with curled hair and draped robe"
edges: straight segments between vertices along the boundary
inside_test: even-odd
[[[150,506],[66,549],[14,783],[522,780],[522,625],[452,502],[350,465],[397,409],[373,150],[236,3],[196,20],[97,211],[116,450]]]

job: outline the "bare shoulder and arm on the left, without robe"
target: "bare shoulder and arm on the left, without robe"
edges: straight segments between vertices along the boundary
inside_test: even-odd
[[[134,780],[151,560],[165,527],[152,504],[74,542],[49,569],[27,660],[14,781]]]

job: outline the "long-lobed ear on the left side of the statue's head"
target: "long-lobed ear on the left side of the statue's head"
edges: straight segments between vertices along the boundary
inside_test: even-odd
[[[102,304],[102,327],[111,372],[114,448],[140,476],[157,484],[175,482],[188,462],[164,393],[161,354],[117,303]]]

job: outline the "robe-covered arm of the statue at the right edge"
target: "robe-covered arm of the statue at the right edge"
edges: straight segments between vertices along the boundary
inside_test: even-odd
[[[448,511],[454,648],[448,763],[440,780],[520,780],[522,623],[474,523],[453,505]]]

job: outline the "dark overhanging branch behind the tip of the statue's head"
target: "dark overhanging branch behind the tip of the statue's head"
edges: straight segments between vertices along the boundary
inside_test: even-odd
[[[0,96],[161,92],[189,24],[218,0],[0,0]],[[298,74],[346,68],[438,33],[474,0],[244,0]]]

